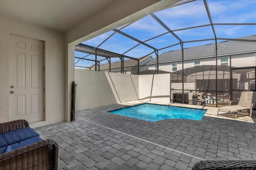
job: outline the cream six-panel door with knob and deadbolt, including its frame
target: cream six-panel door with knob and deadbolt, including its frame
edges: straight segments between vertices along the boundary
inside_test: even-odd
[[[10,34],[10,120],[44,120],[44,42]]]

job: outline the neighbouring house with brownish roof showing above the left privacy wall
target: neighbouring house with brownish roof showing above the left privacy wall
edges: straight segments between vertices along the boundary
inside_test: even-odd
[[[153,60],[153,57],[146,56],[146,57],[140,57],[139,59],[139,65],[143,66],[144,64],[149,63],[151,60]],[[106,71],[109,72],[111,66],[111,72],[119,72],[121,73],[121,61],[114,62],[111,64],[100,64],[100,71]],[[95,65],[90,67],[90,70],[95,70]],[[97,70],[99,70],[99,67],[97,66]],[[138,62],[133,59],[125,60],[124,61],[124,73],[125,74],[138,74]]]

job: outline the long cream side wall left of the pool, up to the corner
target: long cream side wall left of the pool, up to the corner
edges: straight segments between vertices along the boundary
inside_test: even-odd
[[[76,111],[138,100],[138,75],[75,69]]]

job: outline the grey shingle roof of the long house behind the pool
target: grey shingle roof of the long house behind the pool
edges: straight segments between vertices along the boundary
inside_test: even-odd
[[[256,40],[256,35],[251,35],[247,37],[241,37],[239,39],[252,39]],[[231,55],[235,53],[246,53],[256,51],[256,42],[248,41],[223,41],[217,43],[218,56],[220,55]],[[186,59],[196,59],[201,57],[214,57],[215,54],[215,43],[207,45],[199,45],[195,47],[189,47],[184,49],[184,60]],[[182,50],[165,51],[158,57],[158,62],[171,62],[182,60]],[[150,61],[148,64],[155,64],[156,58]]]

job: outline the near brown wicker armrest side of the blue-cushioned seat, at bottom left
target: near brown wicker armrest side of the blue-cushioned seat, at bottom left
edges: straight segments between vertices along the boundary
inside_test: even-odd
[[[58,145],[52,139],[0,154],[0,170],[57,170]]]

